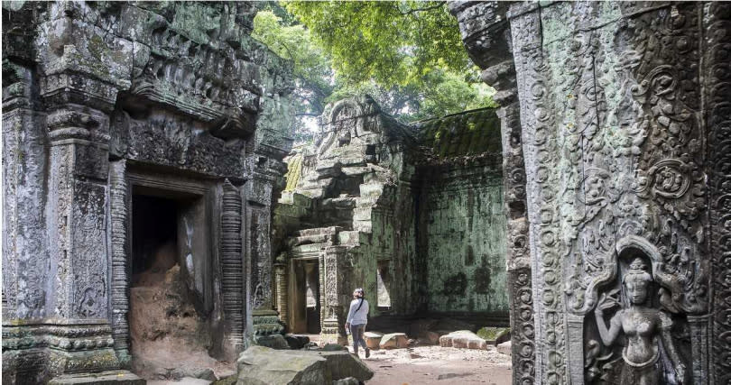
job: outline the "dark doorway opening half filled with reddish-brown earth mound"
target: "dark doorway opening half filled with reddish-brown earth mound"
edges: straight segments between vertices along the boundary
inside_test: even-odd
[[[148,380],[228,371],[217,361],[207,189],[132,176],[129,336],[132,370]],[[152,185],[152,186],[151,186]]]

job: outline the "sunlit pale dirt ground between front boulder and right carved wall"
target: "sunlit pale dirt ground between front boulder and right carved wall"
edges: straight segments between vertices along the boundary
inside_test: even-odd
[[[360,357],[375,372],[368,385],[511,383],[510,357],[492,346],[489,350],[419,346],[372,351],[368,359],[361,351]]]

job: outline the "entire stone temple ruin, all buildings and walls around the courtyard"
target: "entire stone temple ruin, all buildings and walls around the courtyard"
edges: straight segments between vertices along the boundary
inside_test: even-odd
[[[362,287],[509,324],[514,384],[731,383],[731,4],[449,10],[498,108],[291,151],[255,4],[4,2],[3,382],[343,343]]]

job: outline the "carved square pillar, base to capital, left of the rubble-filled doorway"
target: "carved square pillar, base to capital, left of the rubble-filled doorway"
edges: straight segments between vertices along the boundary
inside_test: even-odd
[[[42,96],[49,106],[51,146],[46,203],[51,290],[50,316],[63,335],[51,350],[52,373],[119,367],[108,325],[109,261],[107,177],[109,122],[116,87],[78,73],[47,73]],[[93,337],[93,340],[91,339]],[[90,352],[93,354],[89,354]]]

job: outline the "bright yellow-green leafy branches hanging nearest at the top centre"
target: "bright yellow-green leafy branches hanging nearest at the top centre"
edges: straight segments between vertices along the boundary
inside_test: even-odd
[[[467,53],[446,2],[284,3],[348,82],[406,86],[432,69],[463,70]]]

